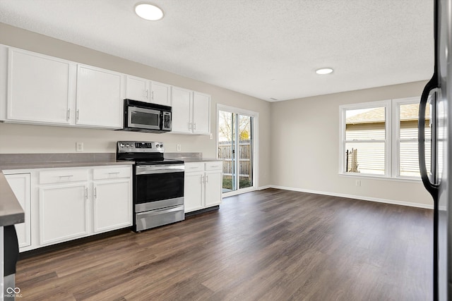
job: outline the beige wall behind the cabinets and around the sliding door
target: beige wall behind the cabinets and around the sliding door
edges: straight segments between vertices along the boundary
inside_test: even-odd
[[[210,94],[210,128],[213,133],[211,140],[209,136],[201,135],[132,133],[0,123],[0,154],[72,153],[76,152],[76,142],[83,142],[84,152],[116,152],[115,143],[118,140],[150,140],[164,142],[165,152],[177,152],[176,145],[180,144],[182,152],[202,152],[204,157],[215,158],[216,105],[225,104],[259,113],[258,132],[261,135],[258,137],[258,185],[270,185],[270,137],[267,135],[270,133],[270,103],[4,23],[0,23],[0,44]]]

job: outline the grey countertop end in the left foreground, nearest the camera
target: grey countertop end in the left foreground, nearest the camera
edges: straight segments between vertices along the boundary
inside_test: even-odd
[[[4,174],[0,172],[0,226],[10,226],[24,221],[23,209]]]

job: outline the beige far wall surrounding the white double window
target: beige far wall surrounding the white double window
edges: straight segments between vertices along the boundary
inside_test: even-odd
[[[359,178],[339,175],[340,113],[342,104],[420,97],[426,82],[294,99],[271,104],[273,185],[380,199],[432,207],[432,197],[420,181]]]

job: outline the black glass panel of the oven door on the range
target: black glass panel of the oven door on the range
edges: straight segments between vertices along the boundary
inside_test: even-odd
[[[184,172],[136,176],[136,204],[184,196]]]

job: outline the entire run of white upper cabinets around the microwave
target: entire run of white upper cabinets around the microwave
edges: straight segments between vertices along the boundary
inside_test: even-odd
[[[172,106],[172,132],[210,134],[210,95],[0,45],[0,121],[119,129],[124,99]]]

